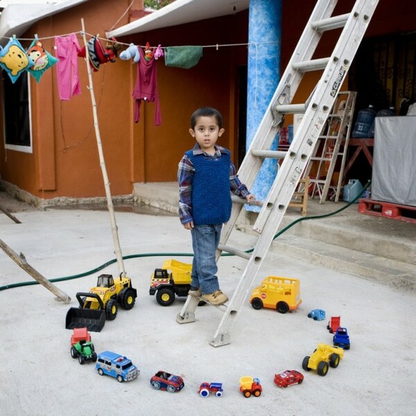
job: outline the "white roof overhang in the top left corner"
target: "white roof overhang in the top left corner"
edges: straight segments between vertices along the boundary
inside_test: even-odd
[[[8,40],[5,37],[16,35],[19,37],[33,24],[44,17],[60,13],[88,0],[67,0],[60,3],[19,3],[9,4],[4,8],[0,17],[0,44],[5,45]]]

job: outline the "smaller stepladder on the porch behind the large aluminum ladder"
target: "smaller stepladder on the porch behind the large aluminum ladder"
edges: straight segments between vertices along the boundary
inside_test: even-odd
[[[308,176],[312,185],[312,198],[318,193],[320,204],[327,200],[329,189],[333,190],[334,202],[338,202],[340,197],[356,95],[355,91],[338,92],[333,110],[304,171],[304,177]],[[338,179],[336,184],[331,185],[337,162],[340,164]],[[315,177],[311,175],[313,168],[316,168]]]

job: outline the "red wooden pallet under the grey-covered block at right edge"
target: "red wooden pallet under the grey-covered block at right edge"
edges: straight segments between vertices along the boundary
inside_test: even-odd
[[[358,212],[360,214],[382,216],[416,224],[416,207],[411,205],[400,205],[393,202],[362,198],[358,201]]]

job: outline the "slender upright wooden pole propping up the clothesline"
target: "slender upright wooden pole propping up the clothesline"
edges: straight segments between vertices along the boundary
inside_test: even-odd
[[[96,99],[94,95],[94,84],[92,83],[92,68],[91,68],[91,65],[89,64],[88,45],[87,45],[87,38],[85,37],[84,19],[81,19],[81,25],[83,28],[83,40],[85,44],[85,62],[87,63],[87,72],[88,72],[88,80],[89,80],[88,89],[89,89],[89,94],[91,95],[92,115],[94,117],[94,128],[95,128],[96,141],[97,141],[97,147],[98,147],[98,155],[100,157],[100,166],[101,166],[101,171],[103,173],[105,196],[107,196],[107,207],[108,207],[108,212],[110,213],[112,236],[114,240],[114,254],[116,254],[117,264],[119,266],[119,274],[121,276],[125,276],[123,255],[121,254],[119,234],[117,232],[118,228],[116,225],[116,217],[114,216],[114,206],[112,203],[111,192],[110,192],[110,181],[108,180],[107,169],[105,168],[103,145],[101,143],[100,129],[98,127],[97,105],[96,105]]]

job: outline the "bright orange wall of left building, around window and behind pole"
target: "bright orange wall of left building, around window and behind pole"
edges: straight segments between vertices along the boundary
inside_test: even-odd
[[[21,37],[40,38],[81,31],[105,37],[130,1],[93,0],[59,15],[39,21]],[[108,10],[112,12],[109,13]],[[127,18],[126,18],[127,19]],[[125,21],[127,23],[127,20]],[[89,39],[87,35],[87,40]],[[42,40],[54,55],[55,40]],[[78,42],[83,39],[78,34]],[[24,47],[30,42],[22,41]],[[105,46],[105,41],[101,42]],[[132,119],[130,62],[101,65],[92,74],[107,173],[114,195],[130,194],[134,166],[130,152]],[[78,58],[82,94],[60,101],[56,67],[44,73],[40,83],[31,77],[33,154],[1,150],[1,178],[40,198],[103,196],[104,184],[98,160],[89,94],[87,65]]]

